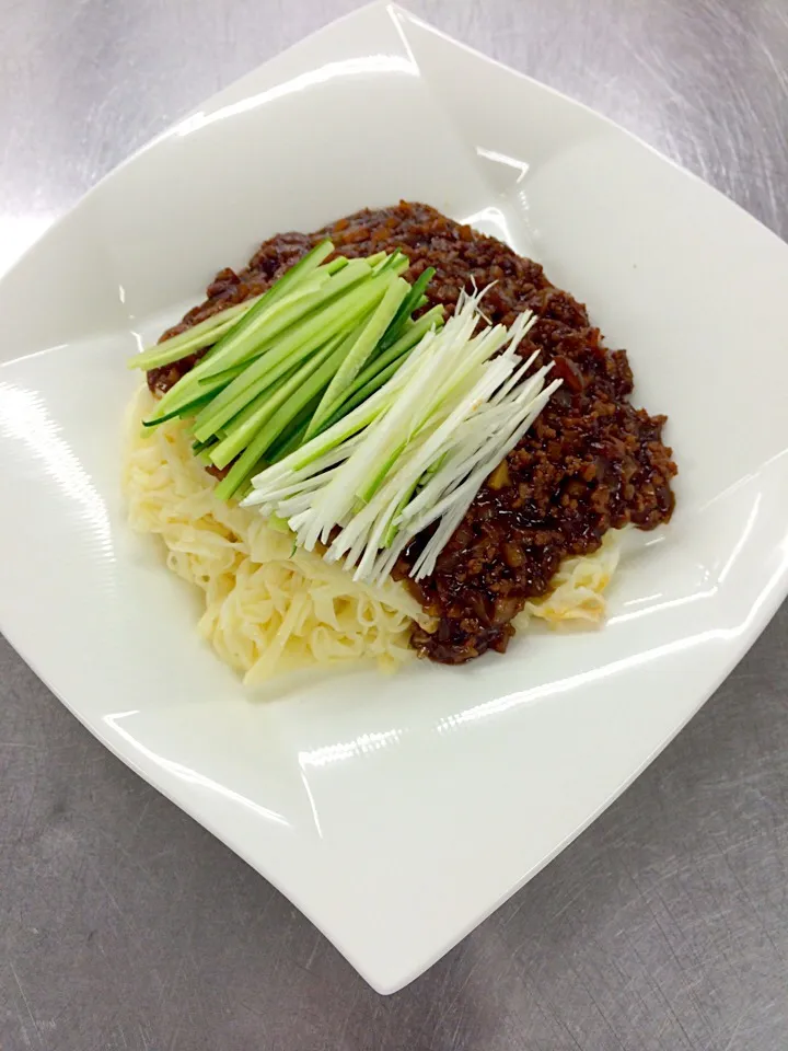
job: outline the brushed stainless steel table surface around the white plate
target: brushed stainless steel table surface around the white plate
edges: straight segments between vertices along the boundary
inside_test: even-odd
[[[788,0],[412,5],[788,235]],[[0,261],[206,95],[354,7],[0,0]],[[601,820],[390,998],[0,640],[0,1049],[785,1051],[787,630],[784,608]]]

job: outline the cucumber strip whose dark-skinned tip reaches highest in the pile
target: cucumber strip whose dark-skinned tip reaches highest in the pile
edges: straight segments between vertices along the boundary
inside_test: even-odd
[[[323,241],[271,285],[254,307],[222,336],[212,353],[167,391],[159,403],[161,414],[164,415],[174,408],[174,402],[184,401],[185,397],[190,399],[190,389],[199,384],[201,377],[237,365],[253,351],[258,342],[256,330],[266,319],[268,310],[276,307],[286,296],[297,291],[298,287],[313,275],[313,272],[333,251],[331,241]],[[324,280],[329,281],[331,277]]]

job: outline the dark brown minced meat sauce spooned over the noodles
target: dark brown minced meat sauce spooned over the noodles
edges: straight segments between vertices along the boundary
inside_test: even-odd
[[[414,627],[421,656],[462,663],[487,649],[503,652],[513,617],[548,590],[563,558],[595,551],[609,529],[653,529],[670,519],[676,467],[662,442],[665,417],[629,404],[626,351],[607,350],[586,308],[551,285],[538,264],[420,204],[364,209],[314,233],[271,238],[240,274],[221,270],[205,303],[162,338],[265,291],[325,238],[348,256],[399,249],[410,259],[410,281],[433,266],[427,296],[449,313],[473,279],[478,288],[495,281],[484,300],[491,322],[511,325],[526,309],[538,315],[520,354],[538,349],[534,368],[552,361],[563,385],[482,487],[433,574],[419,584],[407,577],[418,539],[395,569],[438,621],[433,633]],[[153,370],[151,390],[167,390],[196,360]]]

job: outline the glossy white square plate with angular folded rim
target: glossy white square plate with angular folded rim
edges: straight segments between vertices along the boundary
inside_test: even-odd
[[[630,350],[677,511],[599,633],[253,703],[130,534],[124,367],[263,238],[425,200],[498,233]],[[367,8],[105,180],[0,284],[0,624],[102,740],[381,992],[591,821],[744,654],[788,578],[788,247],[609,122]],[[196,864],[199,861],[196,859]]]

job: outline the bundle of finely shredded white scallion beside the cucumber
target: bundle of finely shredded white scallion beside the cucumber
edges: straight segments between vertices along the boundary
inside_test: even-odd
[[[297,542],[356,580],[387,576],[433,527],[410,575],[428,576],[484,481],[544,408],[560,380],[517,353],[536,319],[478,328],[484,292],[462,296],[366,403],[253,478],[245,506],[287,521]]]

